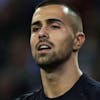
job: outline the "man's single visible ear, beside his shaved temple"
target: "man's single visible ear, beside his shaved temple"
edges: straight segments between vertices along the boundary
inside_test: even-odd
[[[85,34],[83,32],[78,32],[75,34],[73,51],[78,51],[85,41]]]

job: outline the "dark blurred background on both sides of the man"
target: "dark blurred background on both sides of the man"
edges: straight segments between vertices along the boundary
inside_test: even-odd
[[[42,0],[0,0],[0,100],[14,100],[41,85],[30,50],[30,23]],[[100,1],[71,0],[80,10],[86,42],[79,53],[83,72],[100,81]]]

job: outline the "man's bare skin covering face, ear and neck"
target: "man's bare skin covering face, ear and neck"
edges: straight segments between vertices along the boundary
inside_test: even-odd
[[[49,98],[69,91],[82,75],[77,59],[85,35],[73,32],[70,16],[67,7],[54,4],[38,8],[32,17],[32,55],[40,66],[44,92]],[[40,45],[50,49],[39,51]]]

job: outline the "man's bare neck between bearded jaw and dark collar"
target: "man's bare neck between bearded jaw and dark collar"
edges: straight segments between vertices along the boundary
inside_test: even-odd
[[[61,96],[69,91],[82,75],[74,57],[53,72],[48,73],[43,69],[40,71],[44,92],[49,98]]]

